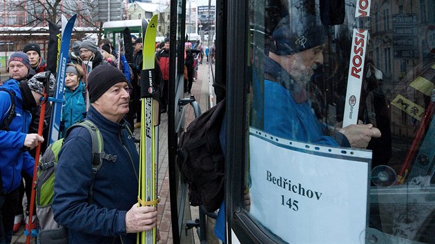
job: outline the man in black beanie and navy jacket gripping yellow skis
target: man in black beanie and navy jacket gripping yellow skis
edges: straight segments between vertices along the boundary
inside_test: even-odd
[[[137,207],[139,155],[125,129],[126,77],[112,65],[99,65],[88,77],[88,92],[86,120],[99,128],[104,154],[111,156],[94,176],[90,134],[86,128],[71,130],[59,152],[54,218],[68,229],[69,243],[136,243],[136,232],[157,225],[157,210]]]

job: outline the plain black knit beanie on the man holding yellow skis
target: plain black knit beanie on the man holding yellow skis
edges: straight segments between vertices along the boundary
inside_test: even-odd
[[[90,102],[97,101],[112,85],[123,81],[127,82],[127,79],[121,70],[112,65],[98,65],[88,77]]]

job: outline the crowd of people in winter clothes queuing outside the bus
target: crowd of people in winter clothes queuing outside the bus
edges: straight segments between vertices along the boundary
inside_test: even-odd
[[[161,92],[162,99],[160,100],[163,105],[160,112],[166,112],[167,106],[168,43],[166,39],[162,43],[162,52],[159,55],[156,54],[159,60],[156,59],[155,71],[161,74],[157,75],[157,79],[158,77],[164,79],[164,83],[160,85],[160,90],[164,90]],[[66,136],[68,128],[74,123],[84,119],[92,121],[103,134],[104,153],[119,155],[117,157],[119,169],[112,168],[110,164],[103,164],[101,172],[104,173],[95,175],[95,181],[92,176],[88,177],[88,174],[71,174],[66,165],[86,170],[85,165],[88,160],[86,155],[88,154],[83,152],[86,150],[91,152],[88,148],[91,144],[90,135],[83,130],[71,130],[59,154],[59,170],[56,174],[62,175],[64,172],[66,176],[62,176],[61,179],[56,177],[53,211],[55,220],[68,228],[68,238],[71,243],[82,243],[91,239],[100,242],[104,240],[103,243],[109,240],[115,243],[118,241],[133,243],[135,234],[128,233],[150,230],[157,225],[157,210],[154,207],[136,207],[139,156],[133,136],[127,133],[128,131],[132,133],[135,128],[140,127],[139,74],[142,70],[142,39],[136,39],[133,42],[135,49],[133,63],[127,63],[123,57],[124,53],[115,50],[108,39],[102,39],[98,44],[91,39],[71,43],[64,80],[60,135],[61,138]],[[39,143],[45,143],[41,146],[41,154],[43,154],[43,150],[47,147],[48,140],[46,139],[51,114],[50,103],[46,103],[46,114],[44,121],[41,121],[44,125],[43,134],[39,136],[37,133],[40,103],[45,87],[43,80],[46,75],[50,74],[46,60],[41,55],[39,44],[29,43],[22,50],[14,52],[8,60],[8,72],[9,79],[0,82],[0,243],[10,243],[12,234],[17,232],[22,225],[26,225],[25,234],[32,236],[37,234],[37,217],[34,215],[35,218],[29,220],[30,204],[27,204],[24,210],[21,203],[24,195],[26,195],[27,203],[30,203],[35,148]],[[50,95],[52,95],[55,76],[50,74],[48,80]],[[10,113],[12,116],[9,115]],[[3,123],[8,121],[8,116],[11,118],[10,123],[3,126]],[[135,118],[139,126],[133,123]],[[119,133],[122,136],[119,136]],[[82,142],[77,143],[77,140]],[[70,141],[75,141],[75,143],[68,143]],[[70,144],[73,145],[71,150]],[[81,152],[85,158],[77,158],[77,152]],[[83,164],[77,166],[75,163]],[[91,167],[90,162],[88,163]],[[119,172],[125,172],[126,177],[119,177],[121,175]],[[92,170],[90,169],[87,173],[91,174]],[[110,174],[118,177],[110,176]],[[127,183],[126,179],[131,179],[131,181]],[[68,181],[73,183],[65,185]],[[68,215],[71,211],[77,210],[75,207],[79,206],[80,202],[80,199],[73,199],[70,195],[77,194],[77,189],[83,189],[84,193],[88,194],[88,184],[91,182],[93,182],[94,192],[92,205],[86,207],[88,199],[87,196],[83,196],[84,208],[79,213],[74,212]],[[117,192],[110,187],[109,195],[111,196],[109,196],[109,192],[103,190],[104,184],[119,185],[122,189]],[[114,193],[117,195],[113,195]],[[119,194],[123,196],[123,201],[115,201],[119,199]],[[65,205],[66,201],[68,201],[67,205]],[[84,224],[89,223],[89,217],[96,220],[93,226]],[[77,222],[78,218],[81,218],[81,221]],[[107,225],[101,225],[103,218]],[[31,233],[27,232],[28,225],[31,225]],[[108,225],[112,225],[113,229],[108,230],[106,228]]]

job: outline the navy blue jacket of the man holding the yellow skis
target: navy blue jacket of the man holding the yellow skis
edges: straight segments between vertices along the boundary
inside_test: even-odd
[[[126,234],[126,212],[137,203],[139,155],[124,125],[113,123],[90,106],[86,119],[93,121],[104,139],[104,152],[117,156],[105,160],[93,182],[91,138],[86,128],[73,129],[59,153],[53,213],[68,228],[69,243],[135,243]]]

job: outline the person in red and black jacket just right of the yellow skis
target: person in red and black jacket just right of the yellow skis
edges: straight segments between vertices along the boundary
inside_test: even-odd
[[[163,91],[160,97],[160,112],[166,112],[168,105],[168,80],[169,80],[169,39],[164,39],[164,46],[160,52],[157,52],[157,61],[159,61],[160,70],[162,70]]]

